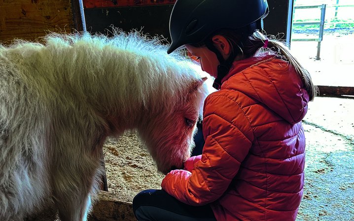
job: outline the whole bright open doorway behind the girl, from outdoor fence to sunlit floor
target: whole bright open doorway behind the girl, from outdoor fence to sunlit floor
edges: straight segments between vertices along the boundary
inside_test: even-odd
[[[309,104],[303,120],[305,184],[296,220],[351,221],[354,1],[293,0],[292,9],[290,51],[324,95]]]

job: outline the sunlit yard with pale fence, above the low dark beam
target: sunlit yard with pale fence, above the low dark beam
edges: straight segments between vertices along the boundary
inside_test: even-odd
[[[316,85],[354,87],[353,0],[294,0],[291,52]]]

